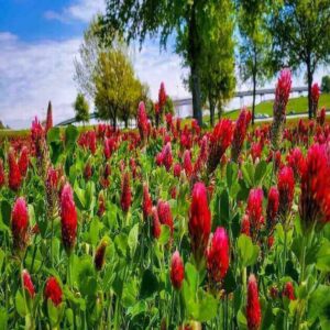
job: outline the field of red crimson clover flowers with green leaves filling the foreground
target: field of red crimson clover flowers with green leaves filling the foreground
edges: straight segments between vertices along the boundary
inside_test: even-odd
[[[330,329],[330,125],[286,125],[290,88],[254,129],[141,102],[2,142],[0,329]]]

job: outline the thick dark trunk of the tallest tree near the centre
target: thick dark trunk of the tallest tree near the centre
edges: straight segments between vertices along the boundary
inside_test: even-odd
[[[198,31],[196,26],[196,1],[190,10],[189,28],[188,28],[188,59],[191,74],[191,92],[193,92],[193,116],[197,119],[198,124],[202,125],[201,116],[201,96],[200,96],[200,76],[198,70],[198,57],[200,52]]]

